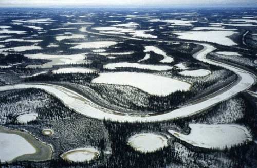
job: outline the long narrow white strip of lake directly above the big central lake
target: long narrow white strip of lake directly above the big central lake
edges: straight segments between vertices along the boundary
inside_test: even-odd
[[[148,65],[148,64],[139,64],[139,63],[128,63],[128,62],[120,62],[120,63],[109,63],[103,66],[104,69],[116,69],[122,67],[130,67],[130,68],[138,68],[138,69],[149,69],[149,70],[171,70],[172,66],[165,65]]]

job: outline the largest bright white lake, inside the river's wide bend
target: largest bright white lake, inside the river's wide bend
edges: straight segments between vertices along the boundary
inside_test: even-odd
[[[151,95],[164,96],[176,91],[188,91],[191,84],[148,73],[117,72],[100,73],[92,83],[128,85],[139,88]]]

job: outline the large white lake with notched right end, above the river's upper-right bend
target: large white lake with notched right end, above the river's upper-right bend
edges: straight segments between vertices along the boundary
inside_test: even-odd
[[[237,34],[236,31],[184,31],[174,32],[179,39],[196,40],[217,43],[225,46],[237,45],[229,36]]]

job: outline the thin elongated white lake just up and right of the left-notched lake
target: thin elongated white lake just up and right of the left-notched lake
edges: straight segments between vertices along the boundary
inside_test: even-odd
[[[71,49],[108,48],[109,46],[113,46],[115,44],[117,44],[117,42],[113,42],[113,41],[84,42],[84,43],[79,43],[79,45],[76,45],[70,48]]]

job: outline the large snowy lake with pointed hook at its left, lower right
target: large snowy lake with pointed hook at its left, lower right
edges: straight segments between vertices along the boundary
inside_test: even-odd
[[[203,148],[217,148],[223,150],[235,145],[240,145],[252,141],[250,131],[240,125],[235,124],[189,124],[191,132],[183,135],[173,130],[168,130],[173,136],[193,146]]]

